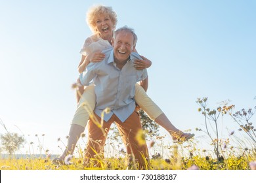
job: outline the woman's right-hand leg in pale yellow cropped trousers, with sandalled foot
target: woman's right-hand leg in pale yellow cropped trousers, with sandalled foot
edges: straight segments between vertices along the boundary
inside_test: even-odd
[[[150,97],[148,97],[145,90],[139,84],[135,85],[135,101],[152,120],[161,125],[161,127],[166,129],[171,134],[173,140],[181,139],[184,137],[184,141],[186,141],[190,139],[191,136],[194,136],[190,133],[184,133],[177,129],[177,127],[175,127],[175,125],[173,125],[167,116],[163,113],[161,108],[158,107],[158,105],[156,105],[156,103],[154,103]]]

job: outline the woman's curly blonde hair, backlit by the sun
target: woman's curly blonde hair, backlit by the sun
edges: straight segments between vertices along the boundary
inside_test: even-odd
[[[95,19],[98,18],[98,16],[104,14],[104,16],[109,16],[110,20],[112,21],[113,24],[113,29],[116,29],[116,24],[117,24],[117,14],[112,10],[112,7],[105,7],[103,5],[96,5],[94,7],[89,8],[87,11],[86,15],[86,21],[87,24],[89,25],[91,31],[93,33],[96,33],[96,24],[95,24]]]

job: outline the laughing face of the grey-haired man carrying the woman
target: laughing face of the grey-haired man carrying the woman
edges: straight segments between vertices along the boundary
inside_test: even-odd
[[[127,31],[120,31],[112,42],[114,57],[119,62],[127,61],[133,51],[133,35]]]

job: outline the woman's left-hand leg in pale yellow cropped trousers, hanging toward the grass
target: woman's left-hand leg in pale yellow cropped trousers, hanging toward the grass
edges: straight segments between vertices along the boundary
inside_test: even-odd
[[[81,133],[85,131],[85,126],[89,120],[90,114],[92,114],[93,109],[95,108],[96,96],[95,96],[95,87],[87,86],[85,91],[81,95],[81,99],[77,104],[77,109],[75,111],[74,117],[72,119],[72,124],[70,126],[68,144],[66,149],[61,156],[54,159],[53,162],[57,164],[64,164],[64,158],[68,154],[73,154],[77,141],[80,138]]]

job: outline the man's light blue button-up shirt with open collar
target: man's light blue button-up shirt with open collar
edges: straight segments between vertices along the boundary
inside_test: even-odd
[[[135,84],[144,80],[148,74],[146,69],[135,69],[134,60],[142,59],[135,52],[132,52],[122,69],[116,67],[113,48],[103,52],[106,55],[103,61],[89,63],[81,73],[80,81],[84,86],[89,86],[93,80],[96,94],[95,113],[98,116],[109,107],[111,111],[104,114],[104,120],[108,122],[116,114],[124,122],[135,110]]]

